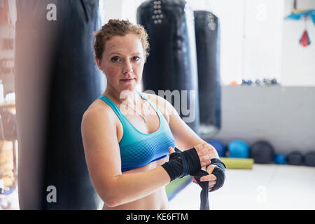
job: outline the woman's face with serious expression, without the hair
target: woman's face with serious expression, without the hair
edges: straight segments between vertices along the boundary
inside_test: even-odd
[[[106,41],[102,61],[97,64],[104,71],[108,85],[121,92],[134,90],[141,81],[144,62],[141,39],[135,34],[127,34]]]

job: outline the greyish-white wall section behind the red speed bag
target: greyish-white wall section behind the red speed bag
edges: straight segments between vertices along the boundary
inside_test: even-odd
[[[285,15],[292,10],[293,0],[286,0]],[[315,0],[297,1],[297,8],[315,9]],[[303,48],[299,40],[305,25],[302,20],[283,20],[281,75],[283,85],[314,86],[315,85],[315,25],[307,21],[307,31],[311,45]]]

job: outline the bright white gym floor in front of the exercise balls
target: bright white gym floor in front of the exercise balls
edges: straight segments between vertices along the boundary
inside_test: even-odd
[[[190,183],[170,202],[170,209],[200,208],[200,190]],[[315,209],[315,167],[258,165],[226,169],[225,185],[209,193],[212,210]]]

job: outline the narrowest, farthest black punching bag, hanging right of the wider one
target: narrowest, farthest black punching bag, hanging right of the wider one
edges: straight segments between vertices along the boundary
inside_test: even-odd
[[[221,129],[220,26],[218,18],[211,12],[197,10],[194,14],[200,135],[209,139]]]

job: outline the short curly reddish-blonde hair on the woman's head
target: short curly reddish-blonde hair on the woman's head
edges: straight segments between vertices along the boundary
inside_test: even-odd
[[[109,20],[99,31],[94,33],[94,52],[97,59],[102,59],[105,50],[106,41],[113,36],[125,36],[127,34],[136,34],[141,39],[144,48],[145,59],[148,57],[150,45],[148,43],[148,33],[141,25],[133,25],[129,20]]]

